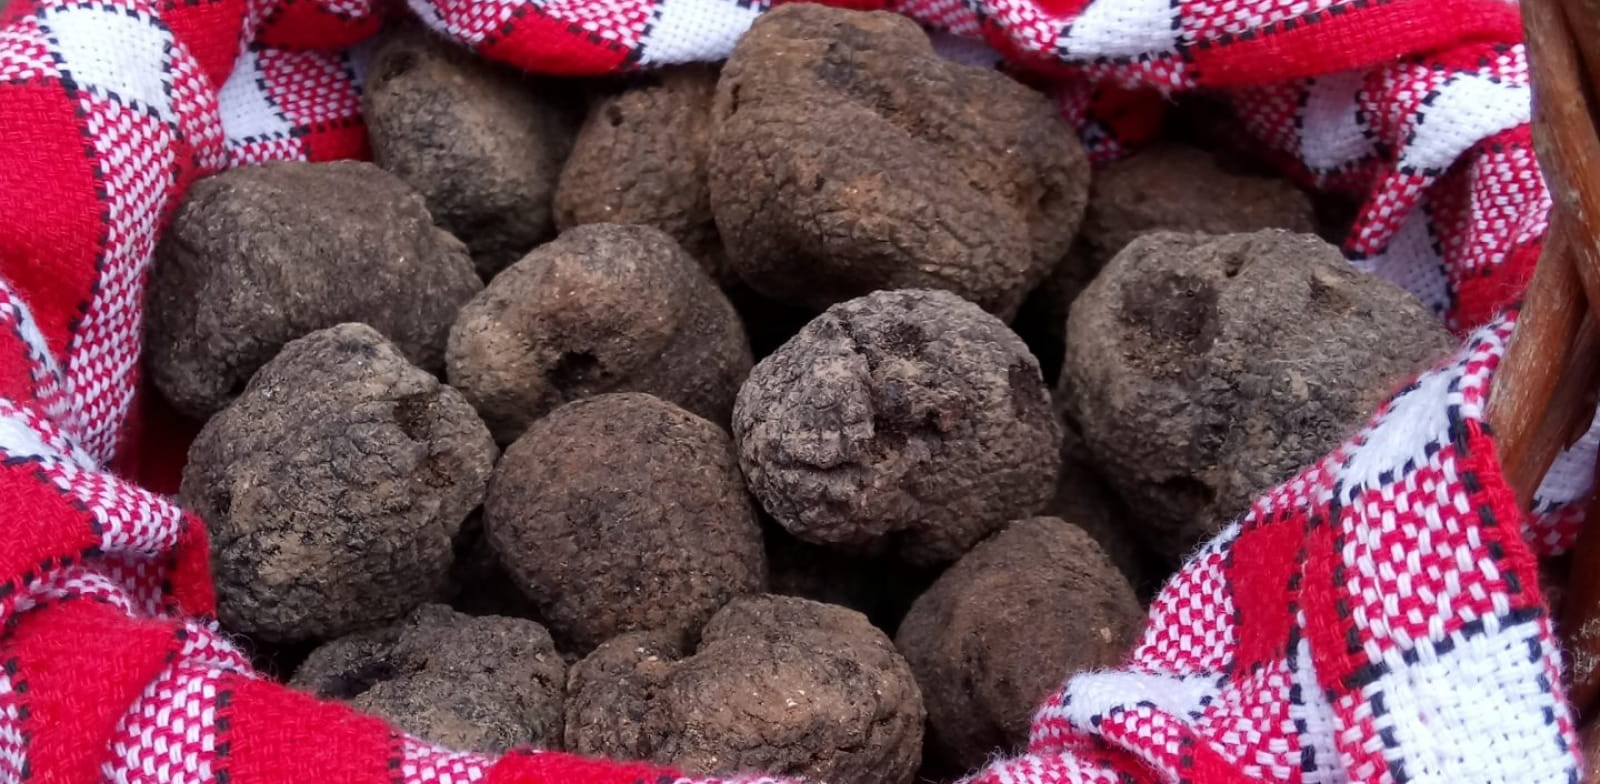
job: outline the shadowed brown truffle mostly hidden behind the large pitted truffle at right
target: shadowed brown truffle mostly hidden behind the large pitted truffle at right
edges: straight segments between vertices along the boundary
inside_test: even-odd
[[[1315,208],[1286,179],[1240,174],[1206,152],[1162,144],[1094,173],[1077,242],[1029,294],[1018,330],[1042,333],[1040,360],[1061,357],[1067,310],[1101,267],[1141,234],[1155,230],[1238,234],[1261,229],[1312,232]]]

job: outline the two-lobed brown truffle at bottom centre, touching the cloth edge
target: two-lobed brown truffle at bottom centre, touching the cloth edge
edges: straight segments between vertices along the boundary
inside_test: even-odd
[[[922,733],[922,696],[888,637],[805,598],[738,598],[693,653],[661,635],[618,637],[566,682],[568,750],[690,774],[907,784]]]

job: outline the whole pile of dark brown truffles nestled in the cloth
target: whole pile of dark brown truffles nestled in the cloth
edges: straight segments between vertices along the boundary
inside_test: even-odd
[[[893,14],[605,83],[398,27],[366,117],[190,189],[146,358],[222,624],[443,744],[960,774],[1450,347],[1293,186],[1091,176]]]

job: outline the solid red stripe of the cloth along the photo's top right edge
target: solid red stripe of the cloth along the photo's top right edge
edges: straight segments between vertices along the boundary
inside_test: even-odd
[[[1250,86],[1336,74],[1469,40],[1517,42],[1522,40],[1522,19],[1517,6],[1502,0],[1392,0],[1341,13],[1318,11],[1293,26],[1278,22],[1248,37],[1224,40],[1202,42],[1189,50],[1205,86]]]

